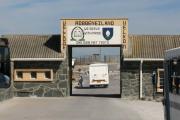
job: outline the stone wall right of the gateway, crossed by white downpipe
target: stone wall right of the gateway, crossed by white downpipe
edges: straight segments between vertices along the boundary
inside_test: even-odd
[[[163,62],[143,62],[142,97],[153,99],[152,72],[163,68]],[[122,98],[139,99],[140,97],[140,62],[125,61],[121,68]],[[156,94],[157,95],[157,94]],[[162,94],[161,94],[162,96]]]

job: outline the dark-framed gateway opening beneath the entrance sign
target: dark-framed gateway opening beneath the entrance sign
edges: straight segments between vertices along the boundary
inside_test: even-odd
[[[68,46],[70,96],[121,97],[121,60],[122,46],[119,45]],[[90,76],[92,76],[90,66],[92,64],[107,64],[108,85],[98,84],[92,86],[90,84]],[[103,71],[103,68],[102,70],[101,68],[98,69]],[[104,76],[105,74],[97,72],[96,76]],[[80,85],[81,80],[82,86]]]

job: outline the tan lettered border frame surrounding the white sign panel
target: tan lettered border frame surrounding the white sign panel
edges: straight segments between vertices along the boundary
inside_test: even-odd
[[[128,19],[127,18],[93,18],[93,19],[61,19],[61,52],[65,51],[67,48],[67,45],[76,45],[76,44],[69,44],[68,40],[70,37],[68,36],[69,33],[69,26],[80,26],[80,27],[86,27],[86,26],[119,26],[120,30],[120,36],[119,36],[119,43],[115,43],[113,45],[123,45],[124,51],[128,49]],[[69,30],[69,31],[68,31]],[[72,32],[72,31],[71,31]],[[103,33],[104,36],[104,33]],[[84,36],[83,36],[84,37]],[[82,36],[80,36],[82,38]],[[80,39],[78,38],[78,39]],[[107,38],[109,39],[109,38]],[[79,45],[79,44],[78,44]],[[81,44],[82,46],[88,46],[88,45],[108,45],[108,44]],[[109,44],[110,46],[112,44]]]

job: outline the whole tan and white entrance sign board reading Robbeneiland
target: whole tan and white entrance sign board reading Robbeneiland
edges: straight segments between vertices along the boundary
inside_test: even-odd
[[[128,44],[128,19],[62,19],[61,48],[67,45]]]

